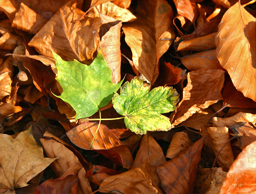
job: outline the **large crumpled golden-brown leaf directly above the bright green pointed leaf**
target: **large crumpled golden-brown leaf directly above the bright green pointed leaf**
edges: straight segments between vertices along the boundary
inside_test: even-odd
[[[76,8],[76,1],[69,1],[60,8],[28,43],[42,55],[53,57],[52,51],[63,60],[77,59],[85,64],[92,62],[93,54],[99,46],[99,18],[85,17],[76,23],[84,13]],[[59,25],[56,25],[56,24]],[[75,33],[74,33],[75,32]]]

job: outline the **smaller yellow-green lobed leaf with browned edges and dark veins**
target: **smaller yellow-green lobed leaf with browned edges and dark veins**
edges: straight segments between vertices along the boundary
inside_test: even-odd
[[[161,113],[175,110],[179,94],[172,87],[149,90],[149,83],[135,77],[130,83],[125,82],[120,95],[115,93],[112,99],[115,110],[125,116],[126,127],[136,134],[173,128],[169,118]]]

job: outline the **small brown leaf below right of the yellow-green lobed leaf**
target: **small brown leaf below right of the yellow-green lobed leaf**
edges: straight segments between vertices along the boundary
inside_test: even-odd
[[[174,158],[182,151],[191,146],[193,142],[189,139],[188,134],[184,132],[177,132],[174,134],[172,141],[168,147],[166,157]]]

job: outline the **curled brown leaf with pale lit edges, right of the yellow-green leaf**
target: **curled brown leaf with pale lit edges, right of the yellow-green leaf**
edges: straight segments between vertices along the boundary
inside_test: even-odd
[[[221,69],[199,69],[189,72],[183,99],[169,117],[172,125],[178,125],[193,113],[222,100],[220,91],[223,83],[224,71]]]

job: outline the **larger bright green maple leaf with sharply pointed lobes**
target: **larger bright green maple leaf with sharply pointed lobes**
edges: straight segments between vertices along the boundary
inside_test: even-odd
[[[58,69],[56,80],[63,89],[60,96],[54,95],[73,107],[76,119],[92,116],[107,105],[121,86],[122,81],[116,84],[111,81],[112,71],[101,49],[91,65],[84,65],[76,59],[63,61],[56,53],[52,54]]]

